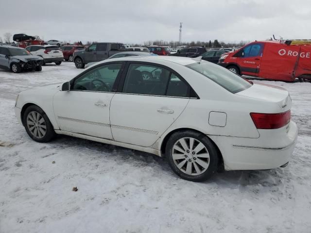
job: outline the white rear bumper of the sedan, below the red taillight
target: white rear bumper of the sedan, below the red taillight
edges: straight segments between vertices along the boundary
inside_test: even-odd
[[[225,170],[262,170],[280,167],[289,162],[298,135],[296,124],[291,121],[289,131],[279,137],[267,139],[209,136],[222,152]],[[269,145],[262,144],[270,141]]]

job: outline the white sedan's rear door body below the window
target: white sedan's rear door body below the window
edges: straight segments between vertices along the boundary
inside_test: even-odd
[[[117,93],[110,107],[116,141],[152,146],[180,116],[190,99]]]

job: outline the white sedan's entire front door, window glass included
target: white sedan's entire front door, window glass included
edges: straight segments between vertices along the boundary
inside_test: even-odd
[[[103,64],[70,81],[70,91],[53,97],[54,115],[61,130],[112,140],[109,108],[122,63]]]

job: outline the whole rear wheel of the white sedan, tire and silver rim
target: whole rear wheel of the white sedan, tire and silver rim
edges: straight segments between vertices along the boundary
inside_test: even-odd
[[[205,134],[195,131],[173,133],[166,144],[165,155],[172,170],[189,181],[205,181],[218,167],[216,147]]]

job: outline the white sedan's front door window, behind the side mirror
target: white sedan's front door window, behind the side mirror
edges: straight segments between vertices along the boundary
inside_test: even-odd
[[[93,68],[70,83],[70,90],[111,92],[121,66],[118,63]]]

